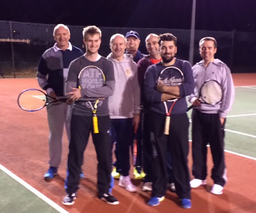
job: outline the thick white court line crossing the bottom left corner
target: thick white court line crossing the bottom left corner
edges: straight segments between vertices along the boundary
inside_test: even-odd
[[[57,203],[53,202],[52,200],[50,200],[48,197],[46,197],[45,195],[43,195],[41,192],[39,192],[38,190],[36,190],[34,187],[30,186],[27,182],[25,182],[24,180],[22,180],[21,178],[19,178],[16,174],[12,173],[10,170],[8,170],[7,168],[5,168],[3,165],[0,164],[0,169],[2,171],[4,171],[6,174],[8,174],[9,176],[11,176],[14,180],[18,181],[22,186],[26,187],[28,190],[30,190],[31,192],[33,192],[36,196],[38,196],[39,198],[41,198],[44,202],[48,203],[50,206],[52,206],[52,208],[56,209],[57,211],[61,212],[61,213],[68,213],[68,211],[66,211],[65,209],[63,209],[62,207],[60,207]]]

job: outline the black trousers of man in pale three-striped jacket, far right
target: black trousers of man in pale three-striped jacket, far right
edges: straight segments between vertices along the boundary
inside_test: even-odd
[[[224,126],[220,124],[219,114],[192,112],[192,173],[196,179],[205,180],[207,176],[207,144],[210,144],[213,160],[212,180],[224,186],[227,173],[224,158]]]

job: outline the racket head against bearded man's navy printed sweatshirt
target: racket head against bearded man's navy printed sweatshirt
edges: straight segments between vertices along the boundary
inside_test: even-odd
[[[177,67],[166,67],[164,68],[157,79],[157,84],[160,82],[167,86],[178,86],[184,83],[184,75],[182,71]],[[171,99],[168,101],[175,101],[177,99]]]

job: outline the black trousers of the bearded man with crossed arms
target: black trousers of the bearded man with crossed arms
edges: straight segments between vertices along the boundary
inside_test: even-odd
[[[153,151],[152,171],[154,171],[151,196],[161,197],[166,193],[168,183],[166,153],[171,152],[176,193],[180,199],[190,199],[187,113],[171,115],[169,135],[164,135],[165,114],[151,112],[149,120]]]

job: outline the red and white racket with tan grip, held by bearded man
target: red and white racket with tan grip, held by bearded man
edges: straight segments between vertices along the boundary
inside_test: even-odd
[[[162,70],[159,74],[159,77],[157,79],[157,83],[162,83],[164,85],[168,86],[178,86],[184,82],[184,76],[180,69],[177,67],[166,67],[164,70]],[[164,101],[164,108],[165,108],[165,126],[164,126],[164,134],[169,135],[169,128],[170,128],[170,120],[171,120],[171,112],[174,104],[176,103],[178,99],[171,99]],[[170,109],[168,110],[167,103],[172,101],[172,105]]]

